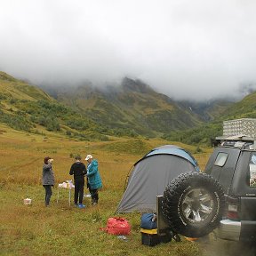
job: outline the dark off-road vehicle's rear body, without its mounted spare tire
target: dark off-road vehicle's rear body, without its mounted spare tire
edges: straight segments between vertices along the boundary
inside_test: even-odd
[[[220,182],[225,194],[218,236],[256,242],[256,141],[234,139],[222,140],[204,172]]]

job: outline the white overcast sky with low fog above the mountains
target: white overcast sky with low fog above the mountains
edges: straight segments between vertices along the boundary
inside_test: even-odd
[[[255,89],[255,12],[255,0],[0,0],[0,70],[34,84],[129,76],[177,100],[237,96]]]

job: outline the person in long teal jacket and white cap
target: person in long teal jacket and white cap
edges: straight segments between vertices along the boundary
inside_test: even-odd
[[[93,159],[92,155],[85,157],[88,162],[87,165],[87,186],[92,196],[92,205],[98,204],[99,192],[98,189],[102,187],[102,181],[100,178],[100,172],[98,170],[98,161]]]

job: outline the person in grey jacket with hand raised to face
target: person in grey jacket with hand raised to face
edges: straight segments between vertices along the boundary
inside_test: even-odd
[[[44,157],[42,183],[45,189],[45,206],[50,205],[52,187],[54,186],[54,173],[52,171],[53,159],[50,156]]]

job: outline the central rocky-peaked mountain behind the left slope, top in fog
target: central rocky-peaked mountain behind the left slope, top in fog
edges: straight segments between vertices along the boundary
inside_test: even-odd
[[[49,90],[49,89],[45,89]],[[50,91],[47,91],[50,92]],[[124,78],[120,86],[104,89],[84,84],[77,88],[56,88],[56,100],[91,116],[109,129],[127,129],[147,136],[188,129],[202,120],[189,108],[157,93],[139,80]]]

